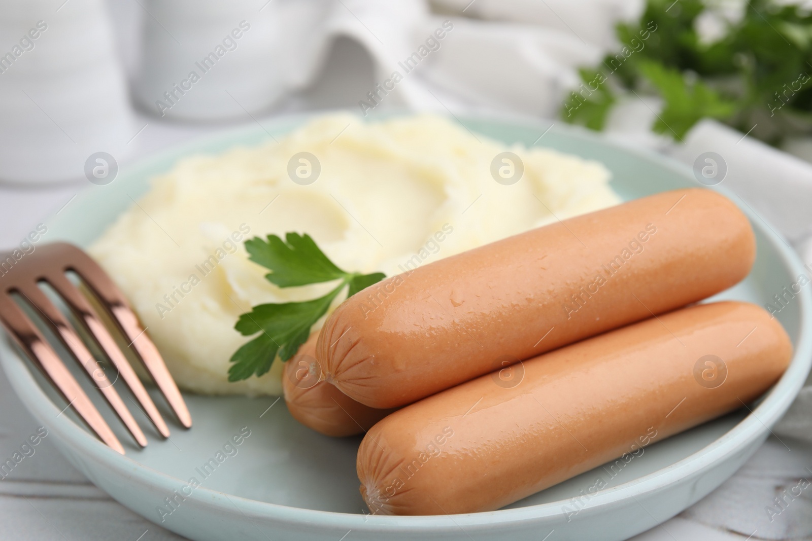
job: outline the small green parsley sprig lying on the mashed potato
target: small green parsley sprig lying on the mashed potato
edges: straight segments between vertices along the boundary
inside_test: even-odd
[[[248,259],[270,269],[266,279],[279,287],[296,287],[340,280],[330,293],[301,303],[259,304],[240,316],[234,328],[243,336],[258,334],[231,356],[229,381],[262,376],[274,359],[287,361],[310,335],[310,328],[349,286],[348,297],[386,277],[383,273],[348,273],[324,255],[308,234],[288,233],[285,240],[268,235],[245,241]]]

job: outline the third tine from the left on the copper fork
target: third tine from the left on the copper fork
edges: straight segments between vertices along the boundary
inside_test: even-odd
[[[45,281],[65,299],[68,307],[76,313],[76,316],[84,321],[90,333],[96,337],[99,345],[102,346],[102,350],[105,351],[115,367],[119,370],[122,379],[130,388],[132,394],[135,395],[136,400],[140,402],[141,407],[158,429],[158,432],[165,438],[169,437],[169,427],[166,426],[166,422],[163,420],[160,412],[158,412],[158,408],[155,407],[155,403],[152,398],[149,397],[149,393],[147,393],[147,390],[144,388],[144,384],[142,384],[141,380],[136,376],[136,372],[132,369],[129,361],[124,357],[122,350],[119,349],[119,346],[115,343],[104,324],[102,324],[102,320],[99,319],[99,316],[96,311],[93,310],[93,307],[90,306],[88,300],[84,298],[84,295],[82,295],[80,291],[76,289],[76,286],[61,272],[46,274]]]

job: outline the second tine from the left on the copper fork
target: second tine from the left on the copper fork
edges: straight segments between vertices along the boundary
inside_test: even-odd
[[[28,298],[28,303],[31,303],[33,307],[41,311],[45,316],[45,320],[50,324],[50,327],[56,331],[63,345],[71,350],[76,361],[84,367],[84,370],[88,372],[88,375],[98,389],[102,391],[110,407],[119,415],[119,419],[121,419],[124,426],[127,427],[127,430],[130,431],[132,437],[135,438],[141,447],[146,447],[146,436],[144,436],[144,432],[141,432],[138,423],[136,423],[136,419],[132,417],[132,413],[130,413],[130,410],[124,405],[124,402],[119,396],[119,393],[116,392],[113,384],[107,379],[104,370],[97,363],[96,359],[93,358],[93,354],[91,354],[87,346],[84,345],[84,341],[76,334],[76,331],[65,316],[63,316],[63,313],[54,306],[54,303],[51,303],[50,298],[48,298],[35,283],[32,283],[29,287],[18,286],[18,292],[25,298]]]

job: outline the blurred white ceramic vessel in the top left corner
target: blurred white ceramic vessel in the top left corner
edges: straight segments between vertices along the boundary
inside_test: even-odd
[[[4,0],[0,35],[0,180],[76,179],[95,152],[126,156],[135,129],[102,0]]]

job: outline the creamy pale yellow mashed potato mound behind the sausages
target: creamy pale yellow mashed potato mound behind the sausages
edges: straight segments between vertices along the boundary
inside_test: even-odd
[[[490,170],[508,150],[524,174],[505,186]],[[299,152],[321,166],[306,186],[288,175]],[[314,298],[332,284],[279,289],[248,261],[244,240],[308,233],[339,267],[391,276],[617,204],[608,181],[595,161],[508,148],[446,118],[371,123],[331,114],[279,143],[179,161],[89,251],[130,299],[181,388],[280,394],[279,361],[265,376],[228,383],[231,354],[249,340],[235,321],[253,305]]]

